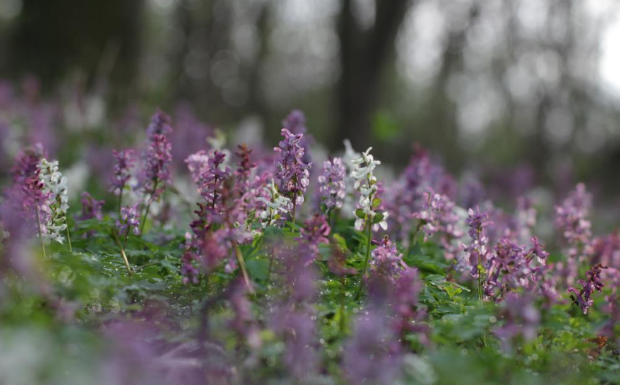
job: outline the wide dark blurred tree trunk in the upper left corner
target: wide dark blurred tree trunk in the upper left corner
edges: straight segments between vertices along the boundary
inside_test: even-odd
[[[71,71],[89,84],[105,55],[115,58],[109,80],[126,90],[135,79],[144,0],[24,0],[9,38],[9,74],[34,74],[51,89]]]

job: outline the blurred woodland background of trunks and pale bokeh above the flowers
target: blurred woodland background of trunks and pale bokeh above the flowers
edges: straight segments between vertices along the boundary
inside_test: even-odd
[[[125,144],[156,106],[187,132],[260,132],[268,145],[298,108],[331,151],[350,138],[402,166],[419,145],[507,189],[583,180],[613,195],[619,5],[1,0],[0,110],[28,105],[11,124],[52,154],[74,151],[60,145],[73,132],[87,151],[58,156],[104,160],[99,144]],[[24,138],[4,120],[9,158]]]

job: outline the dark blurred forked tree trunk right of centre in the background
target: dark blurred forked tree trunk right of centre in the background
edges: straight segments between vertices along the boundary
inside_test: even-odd
[[[394,51],[394,39],[409,4],[410,0],[376,0],[374,25],[363,30],[353,14],[352,0],[342,0],[337,26],[341,72],[336,147],[347,138],[358,150],[368,145],[381,72]]]

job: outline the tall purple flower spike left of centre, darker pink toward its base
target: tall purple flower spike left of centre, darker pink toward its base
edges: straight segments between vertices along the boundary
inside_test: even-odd
[[[148,152],[146,153],[146,168],[144,170],[144,194],[150,194],[151,201],[157,201],[166,184],[170,183],[170,155],[172,145],[162,134],[153,134]]]

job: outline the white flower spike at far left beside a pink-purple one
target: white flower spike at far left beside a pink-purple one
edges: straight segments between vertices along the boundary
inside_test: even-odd
[[[50,194],[50,216],[45,225],[47,231],[43,238],[47,241],[63,243],[61,231],[67,228],[67,178],[58,171],[58,160],[48,162],[45,158],[39,162],[39,180],[45,186],[43,191]]]

